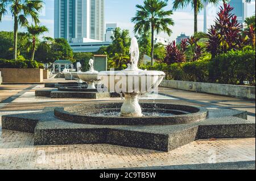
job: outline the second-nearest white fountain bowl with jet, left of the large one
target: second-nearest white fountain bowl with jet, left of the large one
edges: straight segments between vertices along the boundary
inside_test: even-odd
[[[93,67],[93,60],[89,60],[90,70],[86,72],[78,71],[77,75],[82,80],[85,81],[88,84],[87,89],[96,89],[95,82],[98,81],[97,75],[98,71],[94,70]]]

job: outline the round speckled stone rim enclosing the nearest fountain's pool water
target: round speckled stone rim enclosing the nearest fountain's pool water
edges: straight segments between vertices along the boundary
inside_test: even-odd
[[[97,117],[90,116],[90,112],[101,111],[105,109],[117,109],[122,106],[122,103],[105,103],[105,104],[81,104],[69,106],[65,108],[55,108],[54,115],[61,120],[67,120],[74,123],[83,124],[103,124],[103,125],[170,125],[170,124],[187,124],[206,119],[208,110],[203,107],[163,104],[163,103],[141,103],[142,109],[152,109],[158,107],[160,110],[177,110],[191,112],[185,115],[175,116],[148,116],[148,117]],[[73,110],[86,110],[88,115],[73,113]],[[161,122],[159,123],[159,120]]]

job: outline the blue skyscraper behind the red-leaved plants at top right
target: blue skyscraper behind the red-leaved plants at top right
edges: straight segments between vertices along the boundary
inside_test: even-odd
[[[234,7],[232,13],[237,16],[238,23],[243,24],[247,18],[247,3],[245,0],[230,0],[230,6]]]

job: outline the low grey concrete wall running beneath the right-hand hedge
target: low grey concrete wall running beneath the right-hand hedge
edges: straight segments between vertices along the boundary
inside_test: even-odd
[[[209,94],[225,95],[235,98],[255,100],[255,87],[253,86],[224,85],[218,83],[186,82],[172,80],[163,80],[160,86],[173,89],[205,92]]]

